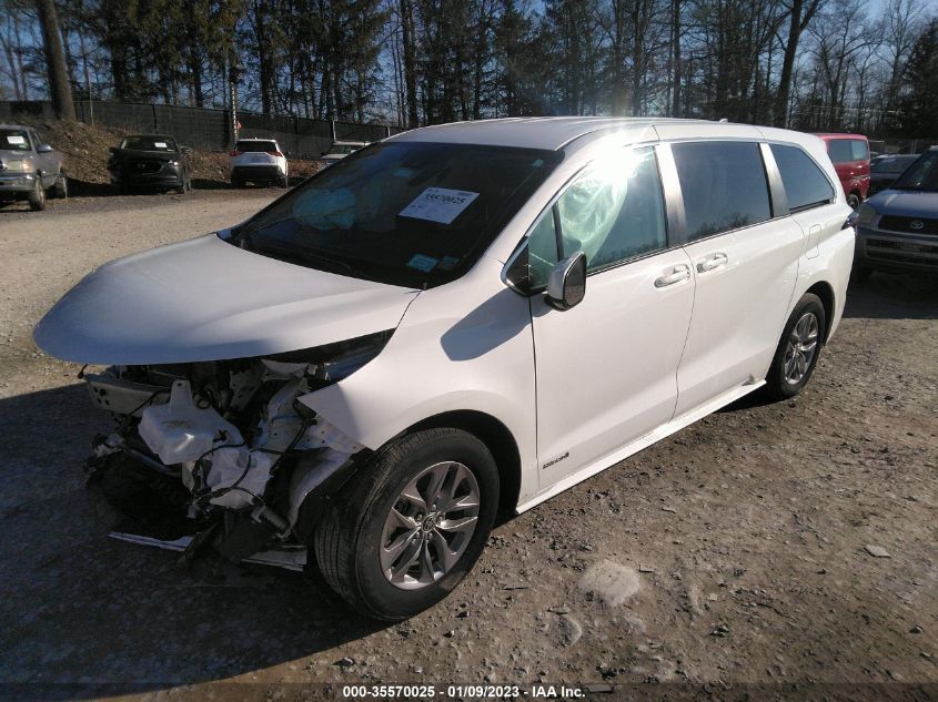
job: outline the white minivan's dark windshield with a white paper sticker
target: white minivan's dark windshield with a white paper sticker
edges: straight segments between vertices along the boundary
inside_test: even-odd
[[[271,204],[232,241],[343,275],[441,285],[476,262],[561,157],[505,146],[375,144]]]

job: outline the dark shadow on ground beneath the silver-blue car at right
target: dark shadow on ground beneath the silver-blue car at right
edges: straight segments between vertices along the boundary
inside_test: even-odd
[[[925,273],[874,273],[851,281],[844,317],[938,319],[938,278]]]

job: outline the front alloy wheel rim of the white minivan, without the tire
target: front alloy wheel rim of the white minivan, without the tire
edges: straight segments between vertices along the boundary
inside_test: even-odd
[[[458,562],[478,521],[480,490],[463,464],[422,470],[397,496],[381,535],[387,581],[402,590],[433,584]]]

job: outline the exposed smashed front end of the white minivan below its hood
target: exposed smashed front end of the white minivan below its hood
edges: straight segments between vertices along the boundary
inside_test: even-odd
[[[93,403],[115,419],[88,460],[111,536],[301,569],[321,500],[367,451],[300,398],[364,366],[390,336],[87,374]]]

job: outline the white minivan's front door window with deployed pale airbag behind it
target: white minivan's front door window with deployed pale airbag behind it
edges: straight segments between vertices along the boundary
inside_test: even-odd
[[[652,147],[618,152],[591,164],[556,206],[564,256],[583,251],[587,271],[667,246],[664,196]]]

